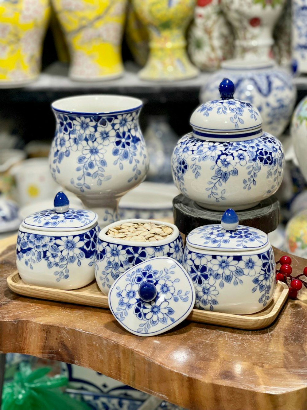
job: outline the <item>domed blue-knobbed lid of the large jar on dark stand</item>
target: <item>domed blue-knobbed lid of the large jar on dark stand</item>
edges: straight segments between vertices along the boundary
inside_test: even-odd
[[[262,118],[250,103],[233,98],[234,83],[224,78],[219,91],[221,100],[208,101],[191,115],[194,137],[207,141],[244,141],[261,137]]]

